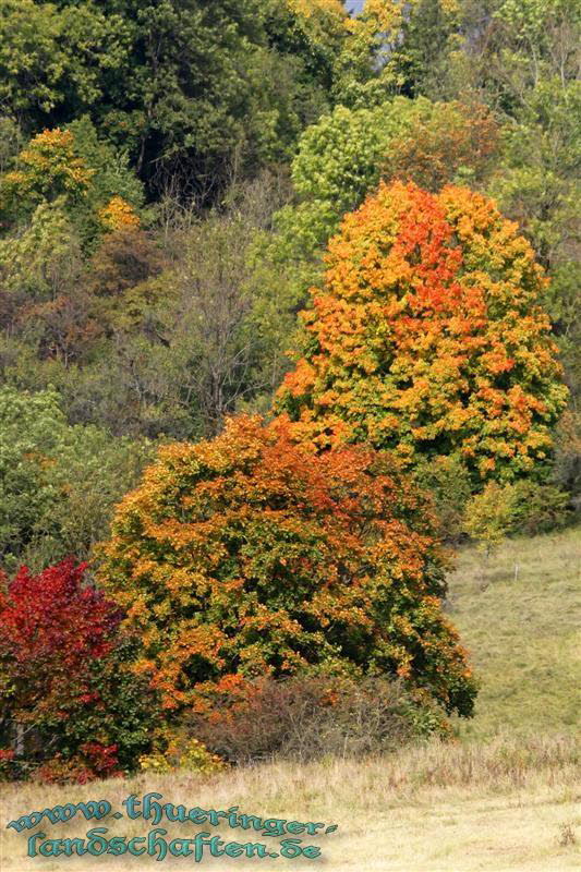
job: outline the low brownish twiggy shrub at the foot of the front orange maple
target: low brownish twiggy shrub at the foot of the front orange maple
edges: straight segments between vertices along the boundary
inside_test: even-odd
[[[445,732],[441,710],[386,677],[259,679],[211,716],[190,713],[182,726],[233,763],[270,756],[316,760],[390,751]]]

